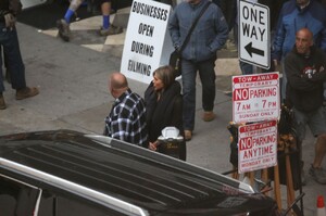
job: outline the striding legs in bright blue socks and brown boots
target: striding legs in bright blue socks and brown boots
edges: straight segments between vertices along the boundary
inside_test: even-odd
[[[83,2],[84,0],[72,0],[67,11],[64,14],[64,18],[57,21],[59,36],[66,42],[71,40],[71,20]],[[93,4],[100,5],[102,12],[102,26],[99,30],[99,35],[109,36],[121,34],[123,31],[122,27],[114,26],[110,23],[111,0],[93,0]]]

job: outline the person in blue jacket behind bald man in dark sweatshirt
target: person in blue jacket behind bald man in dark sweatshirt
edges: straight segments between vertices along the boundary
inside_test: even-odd
[[[283,4],[275,29],[272,60],[283,66],[281,102],[286,98],[287,71],[283,61],[296,43],[296,33],[309,27],[314,45],[326,53],[326,10],[317,0],[289,0]]]

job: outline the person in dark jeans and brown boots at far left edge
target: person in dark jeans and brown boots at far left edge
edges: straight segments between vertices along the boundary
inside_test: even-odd
[[[7,58],[8,69],[10,69],[11,86],[16,90],[16,100],[23,100],[39,93],[35,87],[26,86],[25,66],[22,60],[15,16],[21,12],[22,4],[18,0],[0,1],[0,46]],[[0,52],[0,110],[7,109],[3,98],[2,56]]]

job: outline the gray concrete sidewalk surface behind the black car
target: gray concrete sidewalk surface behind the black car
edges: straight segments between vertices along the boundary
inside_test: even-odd
[[[5,82],[8,109],[0,111],[0,135],[49,129],[101,134],[103,119],[113,101],[108,92],[108,76],[120,69],[123,45],[106,46],[105,52],[99,52],[78,43],[62,42],[24,24],[18,23],[17,29],[27,84],[37,86],[40,94],[16,101],[15,91]],[[229,132],[226,129],[231,120],[231,99],[225,94],[231,87],[233,73],[225,72],[225,66],[230,64],[237,68],[236,59],[220,59],[217,62],[214,107],[217,118],[211,123],[201,120],[201,85],[198,81],[196,129],[193,139],[187,142],[189,163],[218,173],[231,168]],[[147,85],[131,79],[129,86],[141,96],[147,88]],[[306,173],[314,155],[313,142],[309,135],[303,145]],[[325,160],[323,166],[326,168]],[[326,187],[317,185],[309,175],[306,179],[308,185],[303,188],[304,209],[305,215],[310,216],[315,209],[317,195],[326,198]],[[285,192],[283,200],[286,200]]]

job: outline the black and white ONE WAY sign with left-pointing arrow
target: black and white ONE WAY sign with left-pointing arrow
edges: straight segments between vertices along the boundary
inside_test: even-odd
[[[269,9],[260,3],[240,0],[238,14],[240,61],[269,68]]]

